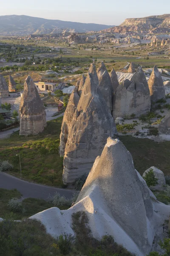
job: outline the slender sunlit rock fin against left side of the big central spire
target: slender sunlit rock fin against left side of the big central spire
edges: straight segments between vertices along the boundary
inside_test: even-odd
[[[77,86],[78,85],[79,85],[79,83],[77,81]],[[67,139],[68,139],[68,129],[69,129],[70,123],[74,116],[74,112],[77,109],[77,105],[78,105],[79,99],[80,99],[79,94],[77,92],[77,90],[78,90],[77,86],[71,93],[71,96],[70,96],[70,99],[69,99],[69,102],[68,102],[67,108],[65,110],[63,120],[62,120],[62,127],[61,127],[61,134],[60,134],[60,145],[59,145],[60,156],[64,156],[65,144],[67,143]]]

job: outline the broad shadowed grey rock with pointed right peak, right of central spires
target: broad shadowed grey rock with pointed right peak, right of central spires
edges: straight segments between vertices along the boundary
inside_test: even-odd
[[[141,67],[138,67],[131,81],[119,84],[113,97],[113,118],[135,114],[139,117],[150,111],[150,90]]]

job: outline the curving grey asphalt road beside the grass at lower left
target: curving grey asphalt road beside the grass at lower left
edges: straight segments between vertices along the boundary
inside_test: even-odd
[[[74,191],[68,189],[58,189],[51,186],[43,186],[31,183],[25,180],[20,180],[17,177],[8,175],[5,172],[0,172],[0,188],[17,189],[21,192],[24,198],[42,198],[47,199],[49,194],[54,195],[57,191],[66,198],[71,198]]]

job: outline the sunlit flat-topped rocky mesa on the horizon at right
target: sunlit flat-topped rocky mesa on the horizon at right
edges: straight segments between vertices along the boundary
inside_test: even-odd
[[[170,14],[126,19],[119,26],[105,29],[106,32],[170,33]]]

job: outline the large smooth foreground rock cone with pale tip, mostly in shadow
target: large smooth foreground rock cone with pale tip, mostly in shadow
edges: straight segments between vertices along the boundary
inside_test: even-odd
[[[86,196],[94,203],[96,193],[105,212],[146,255],[154,238],[149,222],[153,217],[153,205],[149,189],[139,179],[133,166],[131,154],[119,140],[108,138],[76,203],[85,200]]]

